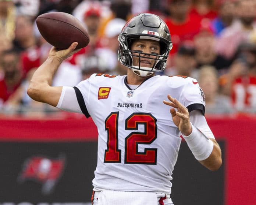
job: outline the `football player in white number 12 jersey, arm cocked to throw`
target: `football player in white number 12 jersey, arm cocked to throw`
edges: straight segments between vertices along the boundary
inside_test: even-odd
[[[204,116],[204,94],[196,79],[157,75],[172,48],[159,16],[135,16],[118,41],[118,60],[127,66],[127,75],[93,74],[75,87],[51,86],[61,62],[77,52],[74,42],[65,50],[51,49],[27,93],[95,122],[99,136],[93,205],[172,205],[171,179],[181,137],[206,168],[214,171],[222,163]]]

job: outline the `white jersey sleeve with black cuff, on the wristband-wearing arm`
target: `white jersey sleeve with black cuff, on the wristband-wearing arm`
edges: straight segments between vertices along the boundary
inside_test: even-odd
[[[185,80],[186,83],[184,83],[179,99],[180,103],[188,108],[189,112],[200,110],[205,115],[205,94],[203,90],[200,88],[196,79],[188,77]]]

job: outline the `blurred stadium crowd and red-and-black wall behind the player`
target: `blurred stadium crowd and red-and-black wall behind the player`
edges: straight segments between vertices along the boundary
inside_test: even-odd
[[[255,1],[245,1],[255,6]],[[88,29],[97,27],[97,31],[93,33],[92,29],[90,33],[93,46],[68,59],[54,81],[55,85],[70,83],[72,86],[95,72],[125,72],[118,63],[107,64],[101,55],[106,52],[109,59],[116,60],[116,53],[113,53],[116,48],[111,45],[124,19],[146,11],[160,15],[169,20],[168,26],[174,26],[178,17],[175,11],[171,14],[169,6],[181,8],[189,3],[187,15],[193,20],[189,24],[192,26],[186,29],[191,33],[182,36],[180,29],[180,33],[173,34],[171,63],[161,75],[186,74],[199,80],[206,94],[206,106],[209,105],[206,107],[207,122],[221,146],[223,165],[216,172],[208,171],[193,158],[182,141],[171,197],[176,205],[256,204],[256,6],[252,14],[254,20],[246,27],[249,29],[239,30],[236,21],[250,12],[240,0],[0,0],[0,205],[87,205],[92,194],[97,163],[97,129],[92,120],[35,103],[25,94],[31,74],[50,48],[36,30],[36,16],[48,11],[63,11],[87,23]],[[231,23],[218,33],[220,25],[216,26],[214,20],[221,22],[221,11],[227,3],[228,8],[234,9],[232,22],[235,26]],[[208,10],[202,14],[200,8]],[[224,10],[224,14],[227,13]],[[100,20],[99,27],[86,22],[92,16]],[[195,31],[197,23],[200,26]],[[225,34],[225,29],[229,29],[231,37]],[[247,38],[242,38],[244,36]],[[35,42],[28,39],[35,39]],[[203,45],[214,41],[216,45],[221,42],[237,47],[224,49],[219,46],[217,54],[209,54],[218,56],[218,60],[202,63],[198,58],[198,41]],[[11,81],[12,75],[8,75],[6,65],[10,66],[10,62],[4,63],[6,51],[18,56],[17,64],[13,62],[15,76],[19,77],[17,82],[16,78]],[[182,61],[186,65],[181,64]],[[9,90],[5,86],[8,82],[11,82]]]

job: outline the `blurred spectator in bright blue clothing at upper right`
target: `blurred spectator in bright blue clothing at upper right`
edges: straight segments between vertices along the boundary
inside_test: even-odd
[[[223,29],[232,24],[235,17],[234,9],[235,5],[234,2],[231,0],[221,3],[218,10],[218,16],[211,23],[211,27],[216,36],[219,36]]]

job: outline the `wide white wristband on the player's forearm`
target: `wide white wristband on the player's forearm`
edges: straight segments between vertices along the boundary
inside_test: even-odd
[[[207,138],[192,123],[191,126],[192,133],[190,135],[185,136],[182,133],[181,135],[185,139],[195,158],[199,161],[205,160],[210,156],[213,150],[213,141]]]

